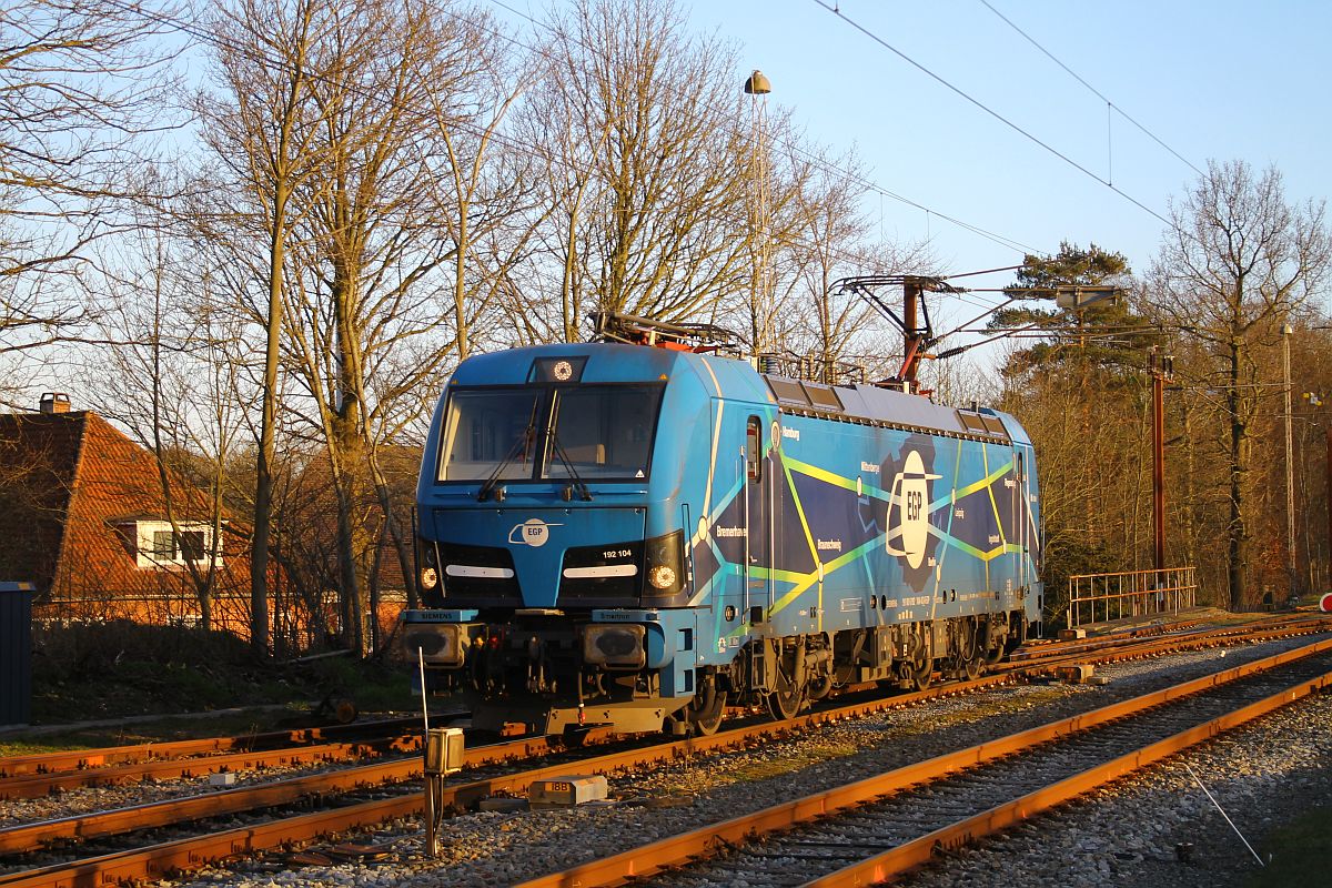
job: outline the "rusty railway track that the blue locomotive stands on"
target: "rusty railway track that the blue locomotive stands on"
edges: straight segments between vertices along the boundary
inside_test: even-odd
[[[1324,620],[1287,626],[1281,630],[1267,630],[1264,635],[1272,631],[1280,635],[1291,635],[1317,628],[1328,630],[1332,628],[1332,624]],[[1207,646],[1212,640],[1193,639],[1193,643]],[[1231,638],[1229,640],[1233,643],[1235,639]],[[1151,638],[1140,640],[1140,647],[1135,651],[1122,648],[1114,654],[1116,658],[1151,656],[1156,651],[1156,646],[1162,644],[1162,642],[1163,639],[1160,638]],[[1180,644],[1177,639],[1171,643]],[[1027,664],[1026,668],[1035,672],[1048,671],[1048,668],[1052,668],[1050,663],[1059,659],[1059,656],[1054,656],[1048,662]],[[755,743],[762,743],[765,738],[781,736],[829,722],[839,722],[1011,680],[1014,680],[1011,675],[994,675],[976,682],[943,686],[923,692],[856,702],[805,715],[786,723],[773,724],[765,722],[741,730],[726,731],[713,738],[694,738],[657,744],[650,748],[639,747],[622,750],[610,755],[583,758],[578,760],[577,768],[581,772],[611,774],[621,770],[651,767],[654,763],[679,760],[691,755],[746,748]],[[589,738],[590,742],[606,738]],[[469,768],[480,768],[507,764],[511,770],[514,766],[521,766],[526,759],[547,755],[557,750],[558,744],[551,747],[551,744],[541,738],[501,743],[492,747],[477,747],[469,750],[466,766]],[[583,755],[594,751],[586,750]],[[497,792],[521,795],[534,780],[569,772],[570,760],[562,760],[559,764],[535,770],[519,770],[482,779],[468,779],[449,785],[444,803],[468,807]],[[306,775],[256,787],[208,793],[205,796],[174,799],[120,811],[65,817],[4,829],[0,831],[0,855],[13,855],[39,847],[51,847],[53,843],[72,843],[95,836],[124,833],[129,829],[178,824],[186,820],[206,820],[240,811],[290,807],[302,803],[302,800],[342,795],[341,807],[334,811],[285,816],[264,824],[246,825],[241,829],[214,832],[210,836],[182,839],[149,848],[105,853],[88,860],[11,873],[9,876],[0,877],[0,888],[9,888],[11,885],[24,885],[24,888],[28,888],[31,885],[93,884],[93,881],[96,884],[109,884],[117,880],[152,879],[174,869],[190,869],[213,860],[258,853],[276,847],[298,847],[317,836],[326,836],[356,827],[368,827],[397,817],[416,816],[422,809],[421,795],[402,784],[418,777],[420,760],[413,756],[397,762],[345,768],[333,774]],[[393,787],[390,784],[397,785]],[[345,793],[357,793],[358,797],[349,801]]]

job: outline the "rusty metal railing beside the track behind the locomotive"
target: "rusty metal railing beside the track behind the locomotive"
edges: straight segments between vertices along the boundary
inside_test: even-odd
[[[1192,567],[1076,574],[1068,578],[1068,628],[1132,616],[1167,614],[1197,602]]]

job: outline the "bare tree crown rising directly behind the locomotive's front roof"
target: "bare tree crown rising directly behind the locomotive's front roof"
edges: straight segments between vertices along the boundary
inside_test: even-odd
[[[734,49],[669,0],[578,0],[542,48],[525,133],[550,157],[561,338],[583,312],[706,316],[746,284]]]

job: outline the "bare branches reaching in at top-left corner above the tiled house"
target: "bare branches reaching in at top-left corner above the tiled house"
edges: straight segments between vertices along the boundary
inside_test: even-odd
[[[119,0],[0,7],[0,357],[89,320],[80,262],[144,196],[140,137],[173,122],[164,13]]]

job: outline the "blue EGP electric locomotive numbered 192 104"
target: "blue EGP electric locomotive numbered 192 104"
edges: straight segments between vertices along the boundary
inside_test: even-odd
[[[429,608],[404,639],[477,727],[709,734],[727,704],[789,718],[975,675],[1032,631],[1038,485],[1012,417],[602,326],[621,341],[469,358],[430,426]]]

